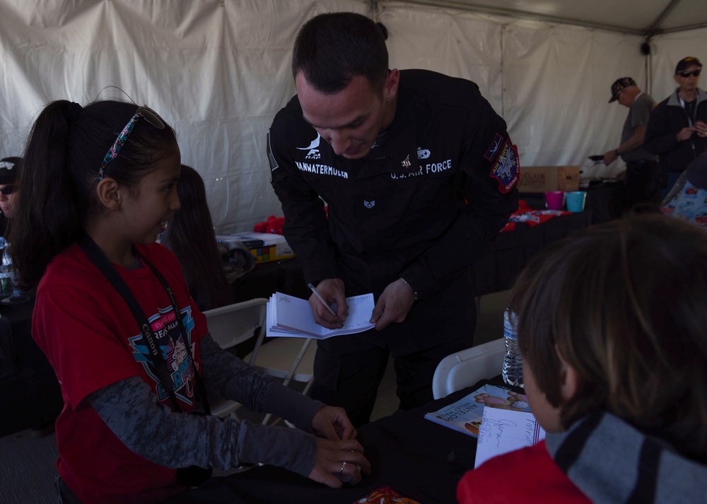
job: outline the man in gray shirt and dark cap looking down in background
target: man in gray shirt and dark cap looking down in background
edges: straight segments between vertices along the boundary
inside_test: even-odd
[[[636,203],[657,203],[658,158],[643,148],[645,127],[655,101],[631,77],[621,77],[612,84],[609,103],[616,101],[629,107],[629,115],[621,131],[621,145],[604,153],[604,164],[614,162],[619,156],[626,162],[626,209]]]

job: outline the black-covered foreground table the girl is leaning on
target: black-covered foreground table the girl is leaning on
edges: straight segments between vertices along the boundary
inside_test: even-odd
[[[501,376],[491,380],[501,384]],[[169,503],[351,504],[381,486],[425,504],[455,503],[457,482],[474,467],[476,438],[423,418],[479,384],[407,412],[370,422],[358,430],[372,472],[357,486],[332,489],[285,469],[253,467],[246,472],[206,481]],[[286,498],[284,498],[286,496]]]

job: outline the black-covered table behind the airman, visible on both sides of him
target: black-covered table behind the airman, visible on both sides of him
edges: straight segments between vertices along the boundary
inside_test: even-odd
[[[592,224],[592,212],[559,215],[537,226],[518,223],[513,231],[502,232],[489,251],[477,260],[474,273],[474,295],[510,289],[527,260],[552,242]],[[298,258],[270,261],[231,284],[235,302],[257,297],[269,298],[274,292],[309,299],[302,264]]]

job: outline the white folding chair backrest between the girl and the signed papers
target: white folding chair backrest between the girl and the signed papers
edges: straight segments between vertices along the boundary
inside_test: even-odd
[[[263,332],[267,301],[265,298],[256,298],[204,311],[211,337],[218,346],[226,349],[249,340],[255,336],[258,328],[259,332]]]

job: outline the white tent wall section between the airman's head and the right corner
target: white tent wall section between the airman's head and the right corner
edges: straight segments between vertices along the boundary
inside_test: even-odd
[[[619,145],[619,77],[645,82],[643,37],[385,2],[391,66],[473,80],[506,119],[521,166],[583,163]],[[616,163],[617,165],[619,163]]]

